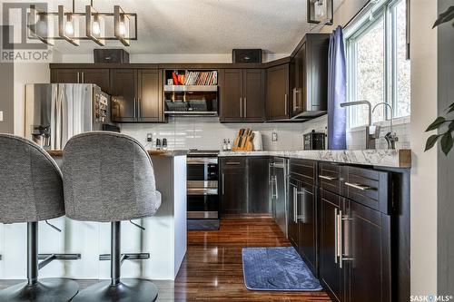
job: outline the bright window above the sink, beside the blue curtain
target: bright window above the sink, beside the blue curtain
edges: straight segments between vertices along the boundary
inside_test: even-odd
[[[410,115],[410,60],[407,60],[406,1],[375,1],[345,32],[348,101],[388,102],[394,117]],[[366,106],[350,107],[349,125],[368,121]],[[372,122],[390,119],[382,106]]]

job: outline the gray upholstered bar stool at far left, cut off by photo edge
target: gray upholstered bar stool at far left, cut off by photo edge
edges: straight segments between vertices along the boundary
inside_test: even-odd
[[[64,254],[38,263],[38,221],[64,215],[62,172],[34,142],[0,134],[0,223],[27,223],[27,281],[0,291],[1,302],[69,301],[79,286],[66,278],[38,279],[38,269]],[[5,259],[7,260],[7,259]]]

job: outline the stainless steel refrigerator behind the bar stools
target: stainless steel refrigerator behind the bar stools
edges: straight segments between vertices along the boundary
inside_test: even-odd
[[[25,85],[25,137],[45,150],[63,150],[76,134],[104,130],[110,116],[110,96],[94,84]]]

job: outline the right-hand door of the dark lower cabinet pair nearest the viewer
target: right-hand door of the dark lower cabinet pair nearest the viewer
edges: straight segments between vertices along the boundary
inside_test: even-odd
[[[348,301],[393,301],[391,297],[390,216],[345,200],[343,258],[349,275]]]

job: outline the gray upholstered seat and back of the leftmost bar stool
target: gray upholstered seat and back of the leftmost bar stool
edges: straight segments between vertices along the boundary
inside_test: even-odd
[[[0,134],[0,223],[64,215],[62,172],[33,141]]]

